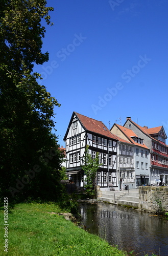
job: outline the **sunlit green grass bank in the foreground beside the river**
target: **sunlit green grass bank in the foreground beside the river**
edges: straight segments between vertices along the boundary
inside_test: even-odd
[[[89,234],[62,216],[55,203],[16,204],[8,215],[8,253],[4,252],[4,209],[1,208],[1,252],[10,256],[124,256],[98,236]],[[2,231],[3,230],[3,231]]]

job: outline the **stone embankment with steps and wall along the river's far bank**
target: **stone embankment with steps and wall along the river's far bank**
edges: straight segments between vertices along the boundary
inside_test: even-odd
[[[151,212],[168,211],[168,187],[139,186],[138,189],[101,191],[95,186],[99,201]]]

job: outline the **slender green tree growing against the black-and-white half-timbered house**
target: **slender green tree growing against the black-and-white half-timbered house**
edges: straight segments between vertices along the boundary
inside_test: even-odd
[[[87,145],[85,148],[84,162],[85,164],[82,165],[82,169],[86,175],[84,187],[86,188],[87,196],[92,198],[94,196],[94,180],[97,175],[97,170],[101,165],[99,164],[99,153],[97,152],[95,159],[93,159],[89,153],[89,146]]]

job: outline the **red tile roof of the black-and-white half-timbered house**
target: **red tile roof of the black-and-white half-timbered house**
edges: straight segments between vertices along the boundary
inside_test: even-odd
[[[117,140],[114,134],[110,133],[106,125],[102,121],[98,121],[95,119],[92,119],[87,116],[83,116],[77,112],[74,112],[79,120],[81,121],[83,127],[90,132],[97,133],[106,137],[109,137],[111,139]]]

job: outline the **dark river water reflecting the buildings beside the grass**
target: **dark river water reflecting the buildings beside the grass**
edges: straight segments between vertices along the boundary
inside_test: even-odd
[[[110,245],[144,256],[168,256],[168,220],[135,209],[105,203],[80,203],[81,225]]]

